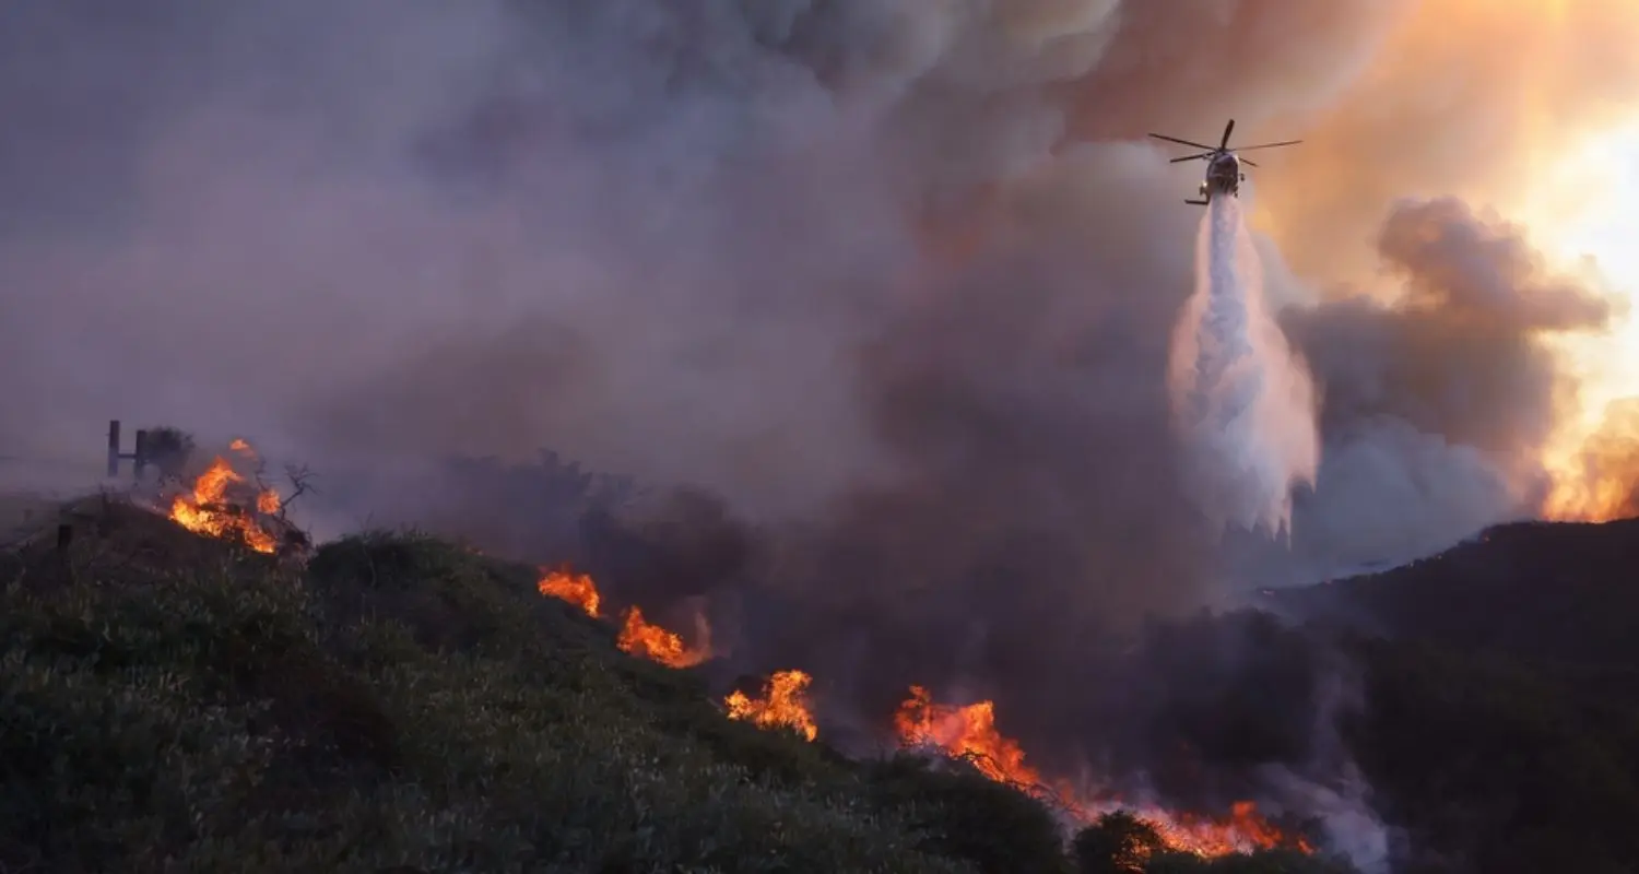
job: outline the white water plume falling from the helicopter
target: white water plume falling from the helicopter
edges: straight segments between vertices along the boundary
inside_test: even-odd
[[[1292,489],[1313,487],[1321,459],[1314,382],[1265,310],[1241,202],[1213,197],[1196,243],[1195,294],[1172,333],[1174,423],[1218,530],[1233,523],[1290,538]]]

